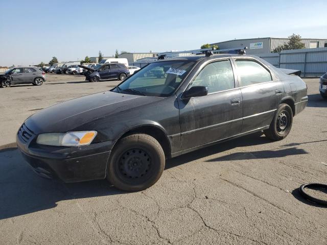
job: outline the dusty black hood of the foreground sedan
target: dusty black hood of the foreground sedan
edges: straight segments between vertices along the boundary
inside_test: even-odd
[[[45,108],[26,119],[25,124],[35,134],[73,131],[96,119],[162,99],[111,91],[95,93]],[[97,130],[96,125],[90,125],[79,130]]]

